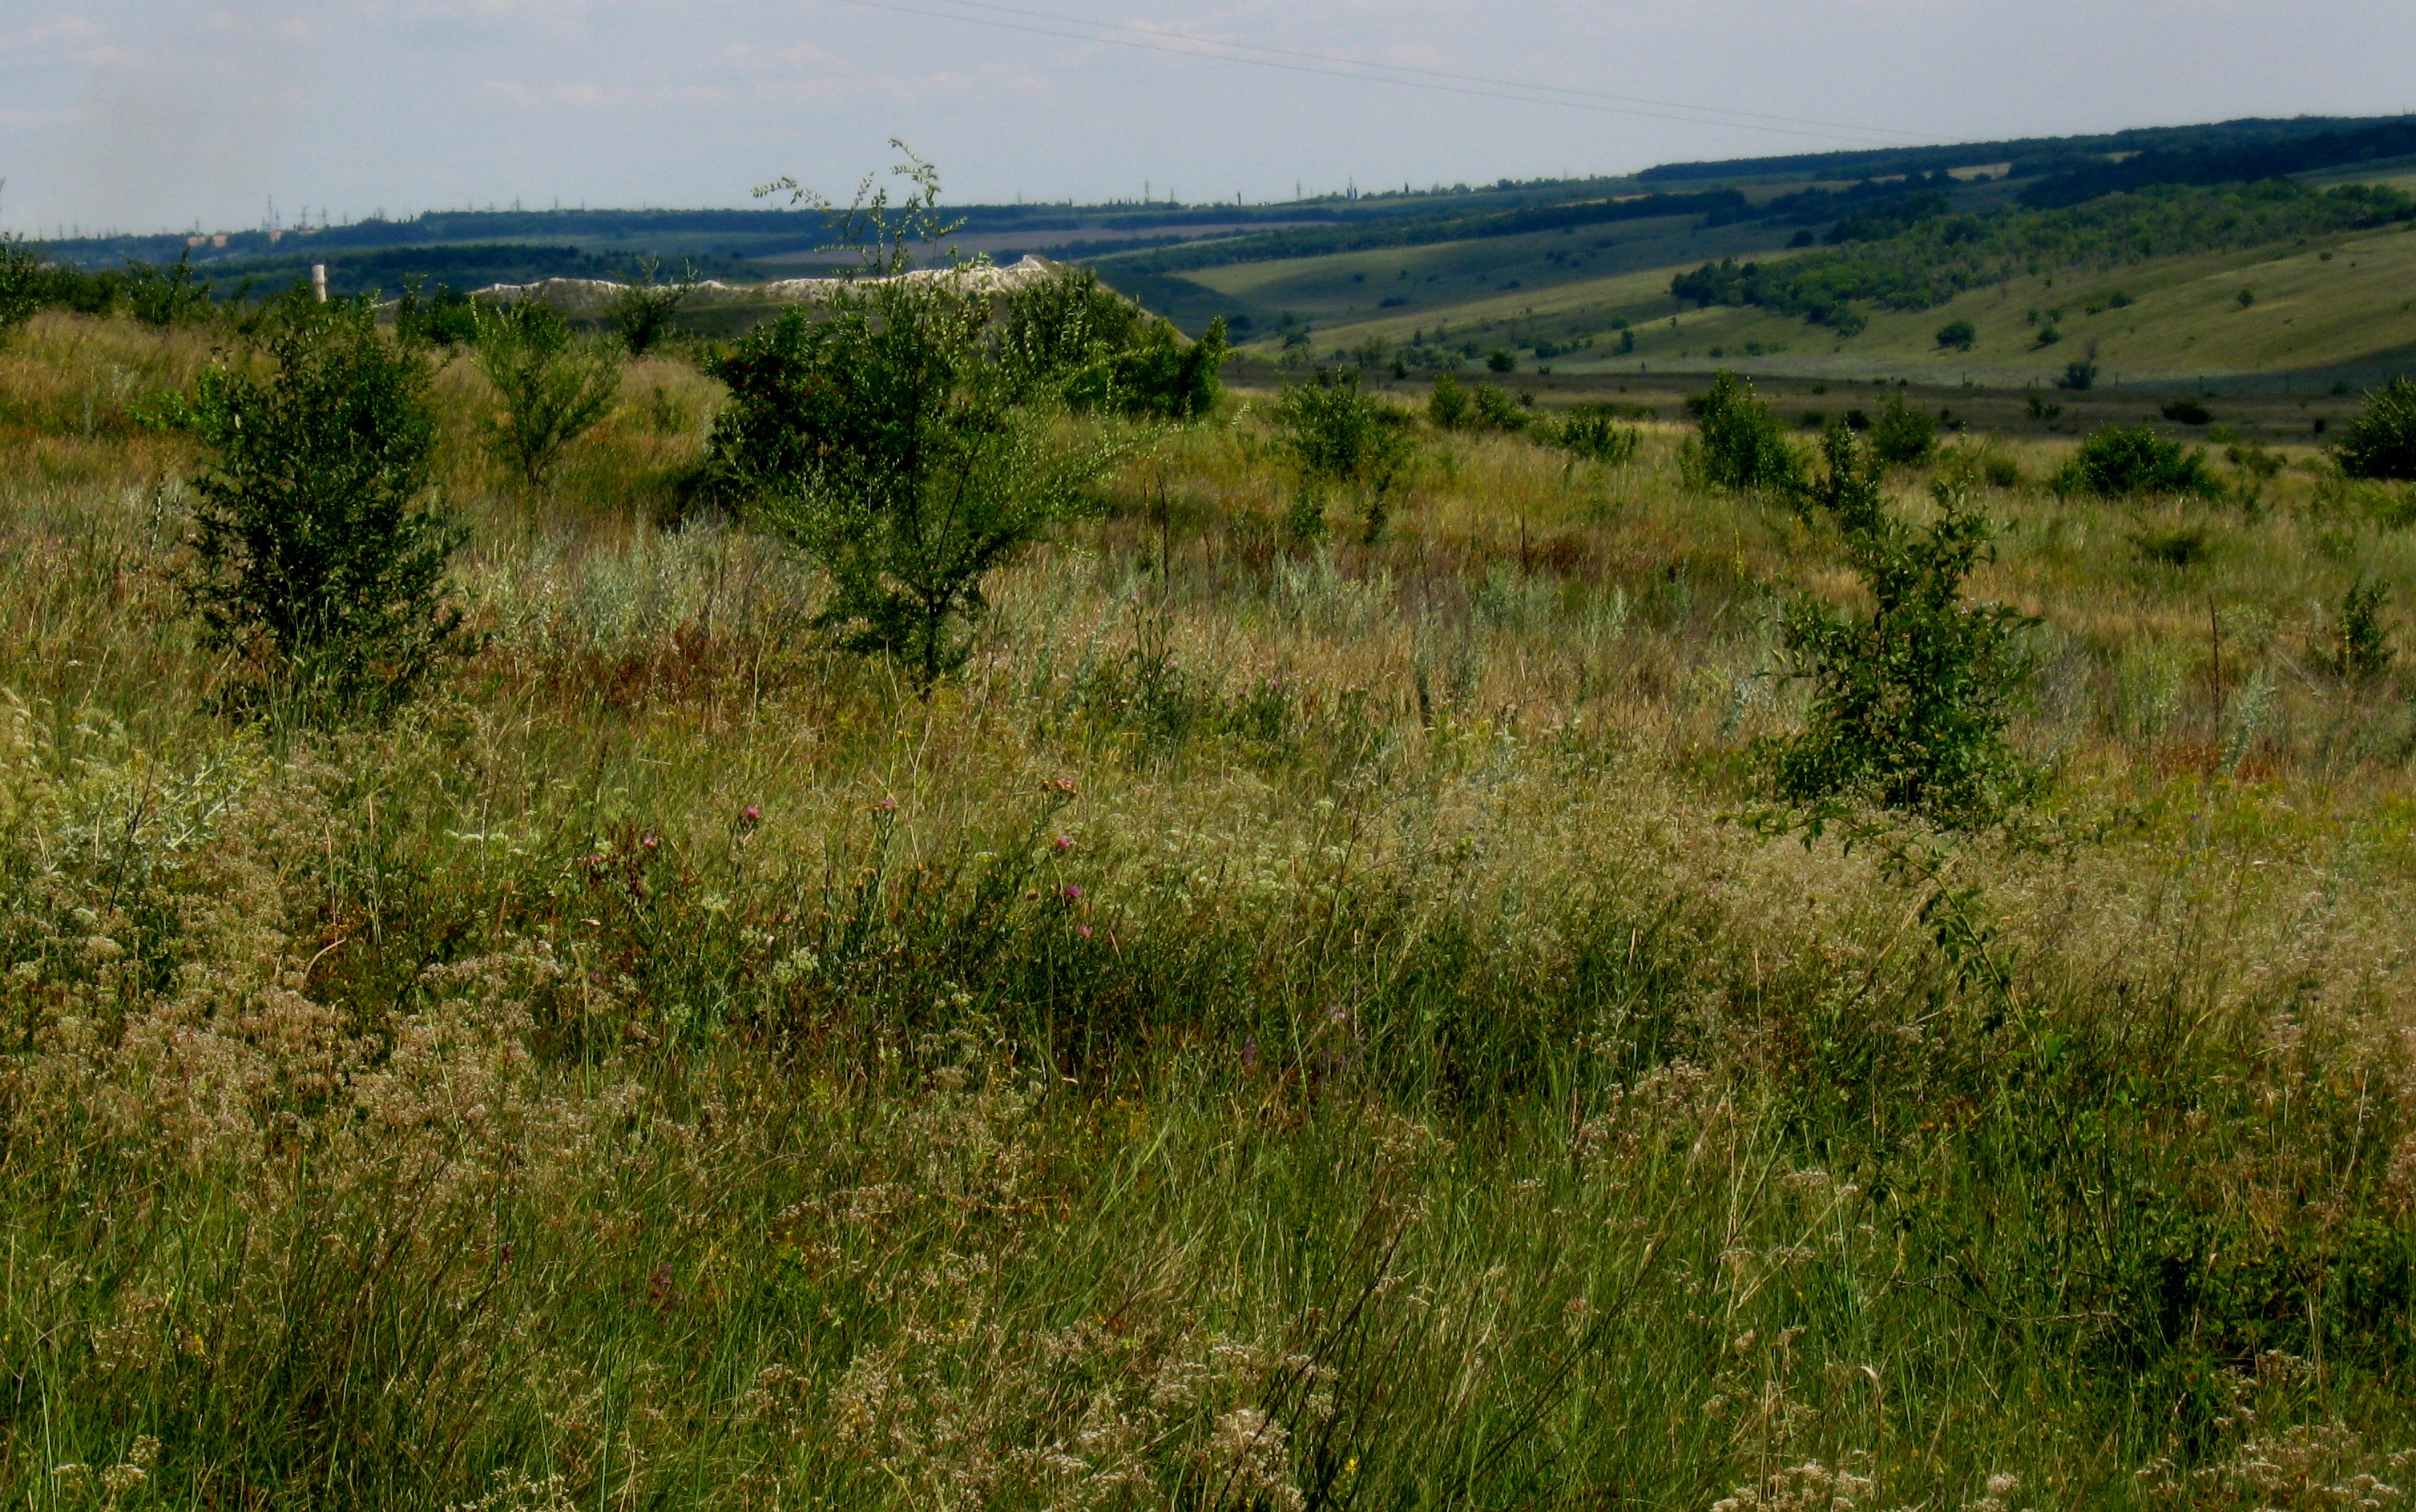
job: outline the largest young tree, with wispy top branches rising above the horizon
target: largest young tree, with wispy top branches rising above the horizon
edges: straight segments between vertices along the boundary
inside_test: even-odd
[[[710,469],[831,577],[819,623],[848,650],[899,657],[928,691],[969,655],[988,575],[1092,512],[1131,442],[1068,432],[1063,386],[1034,382],[1029,350],[1000,341],[976,268],[906,275],[911,244],[949,227],[937,171],[911,152],[896,171],[896,208],[870,179],[848,210],[824,203],[887,278],[783,312],[715,367],[730,406]]]

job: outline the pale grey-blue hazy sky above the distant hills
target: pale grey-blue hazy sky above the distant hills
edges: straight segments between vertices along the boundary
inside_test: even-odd
[[[889,138],[957,203],[1283,200],[2411,109],[2409,0],[0,0],[0,229],[846,198]]]

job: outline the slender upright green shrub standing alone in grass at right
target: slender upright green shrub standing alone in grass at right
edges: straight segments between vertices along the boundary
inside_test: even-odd
[[[1870,606],[1788,604],[1785,676],[1810,684],[1812,705],[1805,729],[1769,742],[1764,761],[1788,802],[1988,824],[2034,787],[2005,727],[2029,691],[2037,621],[1962,599],[1964,577],[1991,558],[1993,529],[1959,488],[1940,481],[1935,519],[1913,529],[1887,512],[1882,464],[1851,430],[1831,425],[1822,452],[1807,500],[1836,524]]]

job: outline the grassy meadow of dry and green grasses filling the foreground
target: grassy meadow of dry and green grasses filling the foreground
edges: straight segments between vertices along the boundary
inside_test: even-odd
[[[1773,838],[1860,589],[1674,413],[1309,541],[1230,394],[925,696],[681,353],[536,495],[457,357],[483,647],[329,725],[176,592],[217,341],[0,350],[0,1502],[2404,1505],[2406,485],[1952,437],[2051,780]]]

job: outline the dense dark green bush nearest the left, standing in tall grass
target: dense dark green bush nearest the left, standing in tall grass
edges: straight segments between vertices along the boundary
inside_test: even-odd
[[[266,370],[266,372],[263,372]],[[428,367],[370,304],[288,297],[259,348],[198,384],[186,599],[213,645],[338,703],[394,703],[471,638],[445,604],[469,531],[425,502]]]

